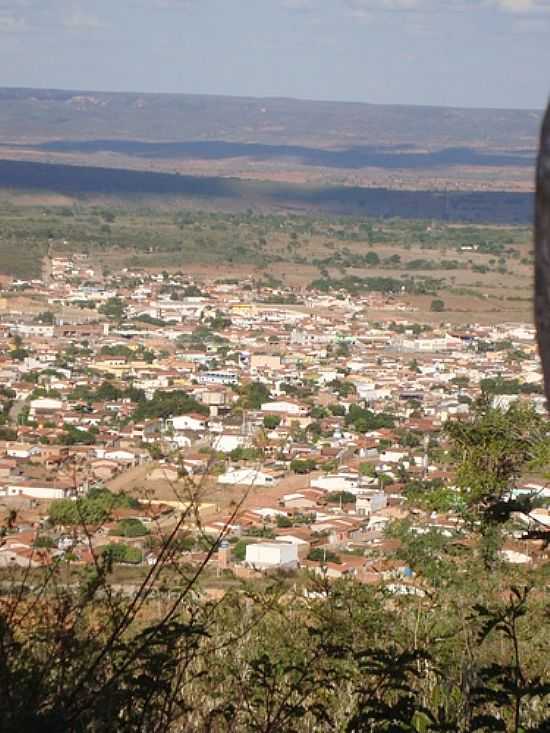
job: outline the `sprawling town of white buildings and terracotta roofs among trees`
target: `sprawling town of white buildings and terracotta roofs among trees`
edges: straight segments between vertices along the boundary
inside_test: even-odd
[[[78,254],[2,286],[0,568],[108,552],[145,572],[175,533],[207,590],[313,573],[423,594],[398,528],[471,539],[445,426],[481,397],[545,412],[530,324],[427,323],[405,292]],[[514,491],[550,496],[536,476]],[[501,559],[536,566],[521,528],[550,512],[517,519]]]

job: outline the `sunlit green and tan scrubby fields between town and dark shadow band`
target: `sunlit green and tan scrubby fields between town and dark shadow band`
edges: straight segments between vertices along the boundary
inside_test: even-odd
[[[308,288],[352,296],[374,290],[398,294],[417,320],[430,323],[531,318],[529,227],[229,214],[51,195],[40,201],[0,198],[0,271],[38,276],[47,252],[80,252],[99,258],[105,273],[172,270],[291,288],[291,301],[287,293],[282,303],[305,302]],[[442,313],[430,311],[434,297],[443,299]],[[390,302],[372,318],[391,311]]]

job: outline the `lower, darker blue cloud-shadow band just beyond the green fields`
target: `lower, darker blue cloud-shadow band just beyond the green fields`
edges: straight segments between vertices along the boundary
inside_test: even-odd
[[[169,195],[219,206],[322,211],[330,214],[525,224],[532,196],[509,192],[391,191],[352,186],[306,187],[231,178],[0,161],[0,187],[68,194]]]

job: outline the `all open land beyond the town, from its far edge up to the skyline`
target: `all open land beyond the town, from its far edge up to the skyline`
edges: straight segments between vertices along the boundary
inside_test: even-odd
[[[457,322],[530,318],[540,119],[0,88],[0,273],[83,252],[106,271],[271,278],[297,297],[385,278],[430,321],[434,293]]]

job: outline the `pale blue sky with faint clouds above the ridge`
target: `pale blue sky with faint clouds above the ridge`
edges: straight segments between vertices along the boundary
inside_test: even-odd
[[[541,109],[550,0],[0,0],[0,84]]]

